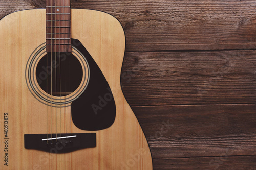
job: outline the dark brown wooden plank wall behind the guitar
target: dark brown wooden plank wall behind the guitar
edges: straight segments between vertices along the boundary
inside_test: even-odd
[[[0,18],[45,0],[2,0]],[[154,169],[256,169],[256,1],[71,0],[126,34],[122,87]]]

